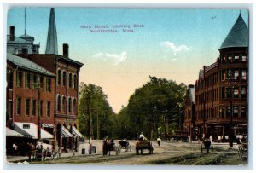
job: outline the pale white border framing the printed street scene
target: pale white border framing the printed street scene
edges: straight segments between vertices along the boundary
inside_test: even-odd
[[[4,4],[5,3],[5,4]],[[3,62],[6,62],[6,58],[5,58],[5,50],[6,48],[6,40],[4,36],[6,36],[6,17],[7,17],[7,9],[10,5],[8,5],[7,3],[13,3],[11,6],[45,6],[45,7],[49,7],[49,6],[86,6],[86,7],[132,7],[132,8],[136,8],[136,7],[145,7],[145,8],[247,8],[249,9],[249,31],[250,31],[250,49],[249,49],[249,54],[250,54],[250,63],[249,63],[249,74],[250,74],[250,77],[249,77],[249,127],[253,127],[253,124],[255,124],[255,118],[253,118],[253,115],[254,115],[254,109],[253,109],[253,106],[254,106],[254,98],[255,98],[255,94],[253,92],[253,90],[255,89],[255,84],[254,84],[254,80],[253,80],[253,77],[255,75],[254,73],[254,70],[253,70],[253,66],[255,66],[255,61],[253,61],[253,43],[255,43],[255,36],[253,35],[253,24],[255,23],[255,18],[253,18],[253,14],[254,14],[254,11],[253,11],[253,4],[254,4],[254,1],[250,1],[250,0],[243,0],[243,1],[232,1],[232,0],[223,0],[223,1],[203,1],[203,0],[199,0],[199,1],[193,1],[193,3],[191,3],[191,1],[189,0],[180,0],[180,1],[176,1],[174,3],[169,3],[167,2],[166,0],[158,0],[158,1],[155,1],[155,0],[148,0],[146,3],[143,2],[143,1],[135,1],[135,0],[130,0],[130,1],[108,1],[108,3],[106,3],[106,1],[103,1],[103,0],[89,0],[89,1],[86,1],[86,4],[84,4],[84,2],[80,1],[80,0],[73,0],[72,3],[68,3],[68,2],[63,2],[63,1],[58,1],[57,3],[53,3],[52,0],[40,0],[40,1],[37,1],[35,2],[34,0],[26,0],[26,1],[22,1],[22,3],[20,3],[19,0],[3,0],[3,3],[1,3],[1,8],[3,9],[3,13],[0,14],[0,21],[1,23],[3,24],[0,29],[0,32],[1,32],[1,36],[3,37],[3,42],[0,43],[0,53],[2,53],[1,55],[3,55]],[[26,4],[24,4],[26,3]],[[100,4],[99,4],[100,3]],[[165,3],[165,4],[161,4],[161,3]],[[168,3],[168,4],[166,4]],[[189,3],[189,4],[188,4]],[[201,3],[201,4],[199,4]],[[218,4],[216,4],[218,3]],[[231,4],[230,4],[231,3]],[[245,3],[251,3],[251,4],[245,4]],[[3,34],[3,35],[2,35]],[[3,51],[3,52],[2,52]],[[3,68],[3,69],[2,69]],[[2,89],[0,89],[0,110],[3,111],[3,114],[2,114],[2,123],[5,122],[5,116],[3,116],[5,113],[5,98],[4,95],[5,95],[5,83],[3,81],[5,81],[5,72],[6,72],[6,64],[5,63],[2,63],[1,64],[1,67],[0,67],[0,70],[2,73],[2,75],[0,75],[0,84],[2,86]],[[256,128],[253,128],[253,130],[249,130],[249,137],[250,139],[252,139],[253,137],[253,134],[256,134],[255,133],[255,129]],[[3,139],[3,142],[1,142],[1,146],[0,148],[2,148],[2,153],[5,153],[5,146],[4,146],[4,143],[5,143],[5,136],[3,136],[3,134],[5,134],[5,128],[3,127],[2,129],[0,128],[0,136],[2,137]],[[249,170],[246,170],[246,171],[253,171],[254,168],[253,168],[253,165],[256,165],[255,164],[255,159],[253,159],[253,156],[255,156],[255,150],[253,150],[253,143],[255,143],[255,138],[250,142],[251,145],[249,145],[249,159],[250,159],[250,163],[249,164],[249,167],[247,168],[244,168],[244,167],[241,167],[241,169],[249,169]],[[253,151],[253,152],[252,152]],[[62,166],[62,165],[58,165],[58,164],[51,164],[51,165],[47,165],[45,166],[46,164],[40,164],[40,165],[18,165],[18,164],[14,164],[14,165],[10,165],[8,164],[9,166],[6,166],[6,164],[4,163],[4,157],[5,155],[2,155],[1,156],[1,165],[2,165],[2,168],[3,169],[18,169],[18,170],[24,170],[24,169],[52,169],[52,170],[58,170],[58,169],[61,169],[61,171],[63,171],[63,169],[66,169],[67,171],[72,169],[72,170],[75,170],[75,171],[78,171],[77,169],[93,169],[93,170],[104,170],[104,172],[108,172],[108,171],[111,171],[113,172],[112,169],[114,169],[115,171],[117,169],[121,169],[121,170],[117,170],[117,171],[123,171],[123,169],[132,169],[132,171],[135,169],[135,170],[138,170],[138,171],[142,171],[140,169],[150,169],[150,170],[146,170],[147,172],[152,172],[152,171],[155,171],[155,170],[160,170],[161,172],[170,172],[170,170],[166,170],[168,168],[166,167],[163,167],[163,166],[91,166],[91,167],[88,167],[88,166],[83,166],[83,165],[80,165],[80,164],[72,164],[72,165],[65,165],[65,166]],[[17,165],[17,166],[16,166]],[[254,166],[255,167],[255,166]],[[164,170],[162,170],[164,169]],[[183,171],[183,170],[189,170],[189,171],[196,171],[196,172],[201,172],[201,171],[205,171],[205,169],[207,169],[207,171],[214,171],[216,172],[215,169],[223,169],[223,170],[230,170],[230,167],[222,167],[220,168],[219,166],[183,166],[182,168],[180,166],[172,166],[171,167],[172,170],[174,169],[178,169],[178,170],[175,170],[175,171]],[[182,170],[181,170],[182,169]],[[211,170],[209,170],[211,169]],[[234,168],[233,168],[234,169]],[[232,170],[232,172],[236,172],[236,171],[241,171],[239,168],[235,168],[236,170]],[[172,171],[171,170],[171,171]],[[5,171],[9,171],[9,170],[5,170]],[[38,171],[38,170],[36,170]],[[45,171],[45,170],[44,170]],[[84,171],[84,170],[83,170]],[[89,170],[89,171],[92,171],[92,170]],[[218,170],[217,170],[218,171]],[[244,170],[242,170],[244,171]]]

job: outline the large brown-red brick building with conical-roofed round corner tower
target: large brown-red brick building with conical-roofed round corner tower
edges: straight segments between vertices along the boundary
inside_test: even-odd
[[[189,125],[193,127],[191,136],[229,140],[234,135],[247,135],[247,62],[248,28],[240,14],[219,49],[217,61],[199,72],[191,116],[186,104],[184,128],[189,131]],[[242,125],[243,130],[239,128]]]

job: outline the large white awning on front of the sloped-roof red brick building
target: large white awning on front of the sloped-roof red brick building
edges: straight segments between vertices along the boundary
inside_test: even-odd
[[[38,139],[38,125],[33,123],[17,123],[15,122],[15,131],[21,133],[24,136]],[[53,135],[41,128],[41,139],[51,139]]]

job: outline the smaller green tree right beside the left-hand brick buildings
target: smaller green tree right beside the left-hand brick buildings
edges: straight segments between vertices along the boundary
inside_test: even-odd
[[[114,136],[114,122],[116,115],[108,104],[108,96],[102,88],[94,84],[80,84],[79,86],[79,130],[84,136],[92,135],[102,139]],[[90,131],[91,120],[91,131]]]

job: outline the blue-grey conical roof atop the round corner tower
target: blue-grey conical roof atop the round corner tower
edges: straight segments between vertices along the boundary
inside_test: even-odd
[[[236,23],[230,30],[228,36],[224,39],[220,49],[234,47],[248,47],[248,27],[239,14]]]

